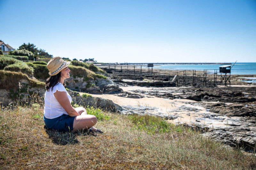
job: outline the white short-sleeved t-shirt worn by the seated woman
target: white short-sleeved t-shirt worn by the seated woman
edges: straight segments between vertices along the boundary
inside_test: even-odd
[[[67,90],[65,87],[59,83],[49,89],[49,91],[46,91],[44,94],[44,116],[48,119],[54,119],[56,117],[59,117],[63,114],[68,115],[68,113],[65,111],[65,109],[60,105],[58,100],[55,98],[54,93],[56,91],[59,92],[66,92],[68,95],[68,100],[71,103],[72,98],[68,94]]]

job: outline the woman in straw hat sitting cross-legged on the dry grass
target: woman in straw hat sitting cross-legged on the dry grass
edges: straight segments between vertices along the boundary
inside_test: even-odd
[[[60,57],[52,58],[47,68],[50,71],[50,78],[45,82],[44,95],[44,123],[48,129],[60,132],[83,131],[99,132],[94,126],[97,118],[94,115],[87,115],[84,107],[73,108],[72,98],[65,89],[64,80],[69,78],[68,65],[70,62]]]

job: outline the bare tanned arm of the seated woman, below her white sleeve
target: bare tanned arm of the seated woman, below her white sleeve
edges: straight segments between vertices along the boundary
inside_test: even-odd
[[[68,95],[66,92],[59,92],[58,90],[54,93],[55,98],[58,100],[60,105],[65,109],[69,116],[79,116],[76,110],[71,106]]]

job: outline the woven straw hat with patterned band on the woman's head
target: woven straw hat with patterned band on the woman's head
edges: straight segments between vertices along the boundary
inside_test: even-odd
[[[62,69],[65,67],[68,67],[70,64],[70,61],[64,61],[60,57],[54,57],[52,58],[48,63],[47,63],[47,69],[50,71],[49,75],[50,76],[55,76],[58,74]]]

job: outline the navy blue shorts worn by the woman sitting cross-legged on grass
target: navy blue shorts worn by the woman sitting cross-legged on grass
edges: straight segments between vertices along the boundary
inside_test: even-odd
[[[54,119],[44,117],[45,126],[50,130],[57,130],[59,132],[71,132],[73,130],[74,119],[76,116],[61,115]]]

